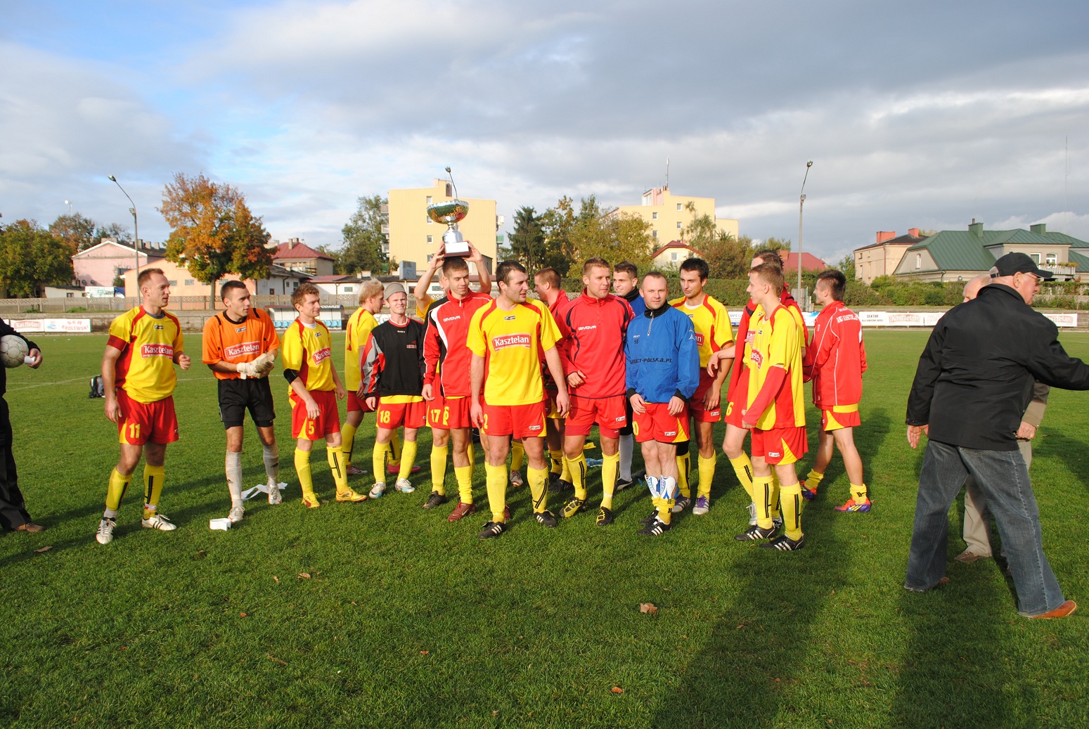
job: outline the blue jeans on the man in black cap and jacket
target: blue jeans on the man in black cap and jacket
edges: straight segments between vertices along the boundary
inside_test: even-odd
[[[926,591],[945,575],[949,510],[971,475],[987,499],[1017,588],[1018,612],[1043,615],[1063,604],[1063,591],[1043,554],[1040,510],[1020,451],[975,450],[931,440],[919,473],[911,551],[904,587]]]

